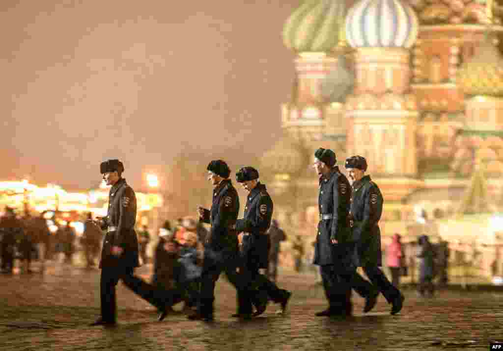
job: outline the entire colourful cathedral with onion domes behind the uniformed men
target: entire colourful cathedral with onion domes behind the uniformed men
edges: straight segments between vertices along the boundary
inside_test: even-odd
[[[346,157],[367,158],[384,237],[419,234],[418,213],[442,224],[501,210],[499,14],[490,0],[301,3],[283,30],[296,54],[284,137],[262,158],[287,229],[314,232],[319,147],[343,171]]]

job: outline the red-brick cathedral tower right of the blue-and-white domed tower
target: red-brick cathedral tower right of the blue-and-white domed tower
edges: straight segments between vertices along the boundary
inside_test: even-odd
[[[472,58],[487,25],[501,31],[495,0],[410,0],[421,23],[413,49],[413,84],[418,121],[419,171],[425,178],[448,174],[456,131],[465,120],[457,78]]]

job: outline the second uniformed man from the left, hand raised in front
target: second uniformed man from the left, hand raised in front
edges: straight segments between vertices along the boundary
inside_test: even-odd
[[[229,179],[230,169],[222,160],[208,164],[208,180],[214,186],[211,209],[198,207],[199,219],[211,224],[204,245],[203,271],[201,276],[200,301],[196,313],[189,319],[213,320],[215,283],[222,271],[237,290],[237,313],[249,317],[251,306],[246,306],[246,284],[238,275],[238,240],[232,226],[239,212],[239,197]]]

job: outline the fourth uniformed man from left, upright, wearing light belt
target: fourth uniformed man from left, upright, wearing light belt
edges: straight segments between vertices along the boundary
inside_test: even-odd
[[[351,281],[357,264],[348,225],[351,187],[336,166],[332,150],[320,148],[314,157],[313,168],[319,176],[319,222],[313,263],[320,266],[328,300],[328,308],[315,315],[351,315]]]

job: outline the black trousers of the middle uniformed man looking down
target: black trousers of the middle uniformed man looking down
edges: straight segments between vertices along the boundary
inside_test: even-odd
[[[267,296],[275,303],[283,301],[286,297],[286,290],[278,288],[278,286],[270,281],[265,275],[260,274],[260,265],[252,260],[244,262],[243,272],[244,279],[251,283],[253,291],[250,292],[250,301],[258,306],[263,301],[264,295],[261,292],[267,293]]]

